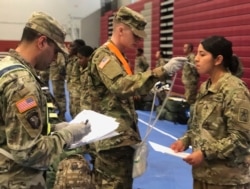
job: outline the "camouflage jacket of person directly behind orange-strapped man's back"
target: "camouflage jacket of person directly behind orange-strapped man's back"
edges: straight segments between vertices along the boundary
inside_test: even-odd
[[[91,99],[88,91],[88,68],[80,68],[80,106],[81,110],[89,110],[91,108]]]

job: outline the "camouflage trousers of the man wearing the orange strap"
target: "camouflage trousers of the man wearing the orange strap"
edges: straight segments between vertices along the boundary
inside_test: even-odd
[[[98,152],[94,166],[96,189],[132,189],[133,155],[130,146]]]

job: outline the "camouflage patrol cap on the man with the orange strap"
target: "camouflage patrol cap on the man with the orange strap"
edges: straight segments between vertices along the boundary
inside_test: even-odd
[[[138,12],[122,6],[115,14],[114,20],[120,21],[128,25],[133,33],[141,38],[147,37],[146,32],[144,31],[147,21],[145,18]]]

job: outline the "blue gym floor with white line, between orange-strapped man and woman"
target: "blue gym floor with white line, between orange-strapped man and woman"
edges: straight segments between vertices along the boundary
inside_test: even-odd
[[[145,136],[148,128],[150,112],[137,111],[141,136]],[[152,121],[156,118],[153,114]],[[154,142],[169,147],[186,131],[186,125],[174,124],[166,120],[158,120],[150,132],[147,142]],[[155,151],[148,143],[148,166],[146,172],[134,180],[133,189],[191,189],[191,166],[181,158]],[[188,153],[191,149],[187,150]]]

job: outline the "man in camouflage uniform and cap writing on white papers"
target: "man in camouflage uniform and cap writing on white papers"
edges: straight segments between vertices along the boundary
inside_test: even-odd
[[[44,170],[90,131],[83,123],[59,123],[47,135],[47,99],[35,70],[65,52],[64,39],[54,18],[35,12],[18,47],[0,62],[0,188],[45,189]]]

